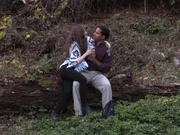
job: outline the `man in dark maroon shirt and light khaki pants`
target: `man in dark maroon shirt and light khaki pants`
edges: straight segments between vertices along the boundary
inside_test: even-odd
[[[95,54],[91,54],[87,57],[88,63],[87,70],[82,71],[87,79],[87,83],[91,84],[97,90],[102,93],[102,107],[112,100],[112,88],[109,80],[104,75],[108,73],[112,66],[112,56],[110,51],[110,45],[107,40],[110,35],[110,30],[106,26],[98,26],[93,34],[93,40],[95,42]],[[79,83],[73,82],[73,98],[74,98],[74,110],[76,116],[83,115],[83,112],[88,110],[82,110],[81,100],[79,94]]]

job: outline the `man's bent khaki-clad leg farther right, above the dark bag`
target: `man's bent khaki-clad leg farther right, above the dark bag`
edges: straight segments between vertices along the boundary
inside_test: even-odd
[[[98,73],[92,78],[92,86],[102,93],[102,107],[112,100],[112,88],[109,80],[101,73]]]

